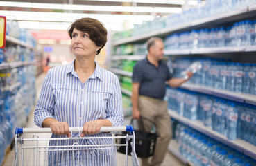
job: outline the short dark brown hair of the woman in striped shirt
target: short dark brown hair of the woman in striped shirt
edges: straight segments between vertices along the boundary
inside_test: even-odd
[[[98,19],[92,19],[92,18],[81,18],[76,19],[71,26],[69,26],[69,37],[72,39],[72,33],[74,28],[77,30],[80,30],[82,32],[88,33],[89,38],[94,41],[96,46],[105,46],[105,43],[107,42],[107,35],[108,32],[103,26],[103,24]],[[98,55],[101,52],[101,48],[97,51],[96,55]]]

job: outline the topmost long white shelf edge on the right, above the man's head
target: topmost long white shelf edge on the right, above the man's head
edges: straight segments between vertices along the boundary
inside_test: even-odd
[[[153,37],[153,36],[164,37],[171,33],[176,33],[176,32],[185,31],[185,30],[191,30],[194,28],[204,28],[209,25],[218,26],[221,24],[226,24],[226,23],[230,23],[233,21],[238,21],[241,19],[246,19],[248,17],[252,17],[253,15],[255,15],[255,12],[256,12],[255,5],[247,6],[247,7],[233,10],[230,12],[223,12],[223,13],[220,13],[219,15],[213,15],[213,16],[206,17],[203,19],[189,21],[188,23],[185,23],[182,25],[171,26],[171,27],[157,29],[157,30],[151,30],[150,33],[137,35],[134,37],[128,37],[128,38],[124,38],[124,39],[118,39],[113,43],[113,45],[117,46],[120,44],[128,44],[131,42],[140,42],[140,41],[144,41],[144,40],[148,39],[149,37]]]

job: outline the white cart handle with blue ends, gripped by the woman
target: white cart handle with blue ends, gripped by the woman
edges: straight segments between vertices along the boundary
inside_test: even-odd
[[[69,127],[69,132],[83,132],[83,127]],[[100,132],[113,132],[113,131],[129,131],[133,132],[133,126],[122,126],[122,127],[101,127]],[[16,127],[15,134],[21,133],[51,133],[51,128],[19,128]]]

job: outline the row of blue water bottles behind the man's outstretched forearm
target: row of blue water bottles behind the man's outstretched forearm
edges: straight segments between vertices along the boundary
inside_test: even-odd
[[[256,64],[214,58],[176,58],[176,62],[169,59],[167,64],[174,77],[182,77],[180,73],[194,61],[200,61],[202,68],[191,77],[189,83],[256,95]]]

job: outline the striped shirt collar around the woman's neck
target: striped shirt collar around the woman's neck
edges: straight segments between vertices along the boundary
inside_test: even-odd
[[[67,64],[67,74],[69,73],[72,73],[73,75],[76,75],[76,71],[75,71],[75,68],[74,68],[74,62],[75,62],[75,59],[70,62],[69,64]],[[96,68],[94,70],[94,73],[92,73],[92,75],[90,76],[90,78],[92,79],[95,79],[96,77],[99,78],[99,80],[102,80],[102,68],[99,66],[99,64],[96,64]]]

